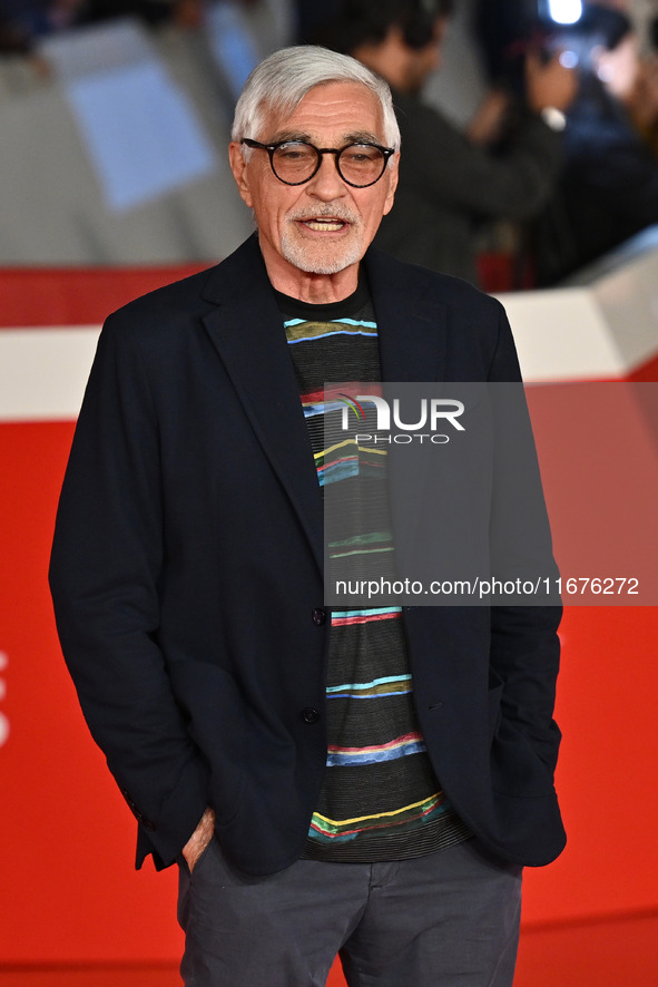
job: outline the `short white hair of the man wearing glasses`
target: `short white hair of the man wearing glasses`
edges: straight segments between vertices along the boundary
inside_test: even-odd
[[[311,89],[327,82],[357,82],[370,89],[382,108],[384,140],[389,147],[400,149],[400,128],[391,90],[384,79],[348,55],[315,45],[282,48],[256,66],[235,107],[232,139],[258,139],[263,135],[266,114],[292,113]],[[247,158],[249,150],[243,146]]]

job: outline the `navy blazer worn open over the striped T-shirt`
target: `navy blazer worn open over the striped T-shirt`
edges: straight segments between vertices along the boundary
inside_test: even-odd
[[[369,251],[382,374],[512,381],[498,302]],[[323,512],[257,240],[106,322],[76,429],[50,580],[91,733],[173,863],[204,809],[232,861],[303,852],[326,758]],[[564,834],[552,779],[557,607],[405,612],[414,698],[450,801],[508,860]]]

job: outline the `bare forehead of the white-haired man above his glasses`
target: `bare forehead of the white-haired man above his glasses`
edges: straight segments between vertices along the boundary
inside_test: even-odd
[[[271,108],[264,117],[267,139],[383,139],[383,114],[375,94],[360,82],[314,86],[287,111]]]

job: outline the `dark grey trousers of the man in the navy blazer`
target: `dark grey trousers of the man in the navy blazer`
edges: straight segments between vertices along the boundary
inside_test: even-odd
[[[324,987],[340,954],[350,987],[510,987],[521,868],[475,840],[418,860],[298,860],[264,878],[213,840],[180,866],[186,987]]]

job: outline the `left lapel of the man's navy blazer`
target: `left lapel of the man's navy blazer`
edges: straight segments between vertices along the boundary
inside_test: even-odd
[[[206,330],[323,567],[322,496],[283,320],[255,237],[215,267]]]

